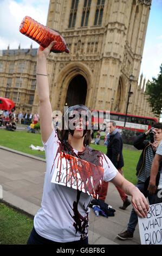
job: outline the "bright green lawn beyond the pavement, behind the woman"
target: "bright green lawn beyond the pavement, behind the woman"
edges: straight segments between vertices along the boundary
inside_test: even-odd
[[[45,158],[44,152],[30,149],[29,146],[31,144],[35,146],[42,146],[41,135],[37,133],[28,133],[26,131],[11,132],[7,130],[0,130],[0,145]],[[106,154],[105,146],[91,144],[90,147],[100,150]],[[123,155],[125,162],[125,166],[123,168],[125,178],[135,184],[137,182],[135,168],[140,156],[140,151],[124,149]]]

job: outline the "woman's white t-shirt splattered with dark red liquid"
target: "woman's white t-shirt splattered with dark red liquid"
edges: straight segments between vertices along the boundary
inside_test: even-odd
[[[51,182],[59,157],[60,141],[55,130],[44,144],[46,153],[46,175],[44,178],[41,209],[34,217],[36,232],[55,242],[72,242],[86,239],[88,235],[88,205],[91,196]],[[77,151],[73,149],[77,154]],[[105,160],[106,159],[106,160]],[[110,181],[118,170],[105,155],[103,157],[103,180]]]

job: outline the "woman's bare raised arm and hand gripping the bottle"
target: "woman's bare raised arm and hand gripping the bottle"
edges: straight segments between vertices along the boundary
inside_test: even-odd
[[[47,142],[53,130],[52,109],[49,100],[49,84],[47,76],[47,57],[54,44],[55,42],[51,42],[47,48],[40,46],[37,50],[36,84],[40,105],[41,135],[44,143]]]

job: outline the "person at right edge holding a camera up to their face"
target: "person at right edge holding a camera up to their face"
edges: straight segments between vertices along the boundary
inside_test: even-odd
[[[146,139],[149,136],[150,139]],[[155,156],[155,152],[158,148],[158,145],[162,142],[162,124],[155,123],[152,129],[148,130],[145,133],[142,133],[137,136],[134,140],[134,147],[138,150],[142,150],[142,153],[139,157],[137,164],[137,187],[144,194],[150,204],[157,203],[153,194],[150,194],[147,191],[146,181],[148,181],[151,173],[151,166]],[[133,233],[135,227],[138,223],[138,216],[135,211],[132,209],[131,216],[127,225],[127,230],[118,234],[117,237],[121,240],[133,239]]]

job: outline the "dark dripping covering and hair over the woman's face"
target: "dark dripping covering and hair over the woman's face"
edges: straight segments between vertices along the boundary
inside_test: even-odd
[[[89,145],[91,141],[90,130],[91,130],[91,113],[85,105],[75,105],[69,107],[63,115],[63,126],[61,131],[61,141],[66,142],[69,133],[73,136],[75,127],[82,120],[83,137],[85,137],[83,144]]]

